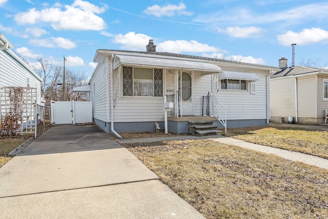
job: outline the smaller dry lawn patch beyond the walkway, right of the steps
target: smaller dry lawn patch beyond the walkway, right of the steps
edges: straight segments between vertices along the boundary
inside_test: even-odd
[[[245,142],[311,154],[328,159],[328,131],[301,127],[228,129],[227,136]]]

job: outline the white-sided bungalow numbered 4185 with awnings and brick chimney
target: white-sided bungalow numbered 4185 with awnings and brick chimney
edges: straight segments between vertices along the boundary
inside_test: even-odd
[[[216,58],[99,49],[90,79],[94,122],[106,132],[155,131],[165,124],[165,97],[173,102],[168,131],[188,133],[188,122],[219,128],[268,126],[269,82],[276,67]]]

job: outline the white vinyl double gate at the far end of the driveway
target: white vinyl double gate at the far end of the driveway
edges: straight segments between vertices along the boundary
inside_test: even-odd
[[[90,101],[51,101],[51,123],[76,124],[92,122]]]

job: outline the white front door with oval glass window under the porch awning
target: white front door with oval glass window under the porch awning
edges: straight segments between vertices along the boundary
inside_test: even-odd
[[[180,71],[178,75],[179,99],[182,99],[182,115],[194,115],[193,75],[187,71]]]

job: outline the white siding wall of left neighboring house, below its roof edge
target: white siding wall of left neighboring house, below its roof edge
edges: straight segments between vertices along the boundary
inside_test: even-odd
[[[29,77],[30,87],[36,88],[37,104],[41,104],[41,81],[22,64],[13,58],[9,52],[0,50],[0,87],[27,87]]]

